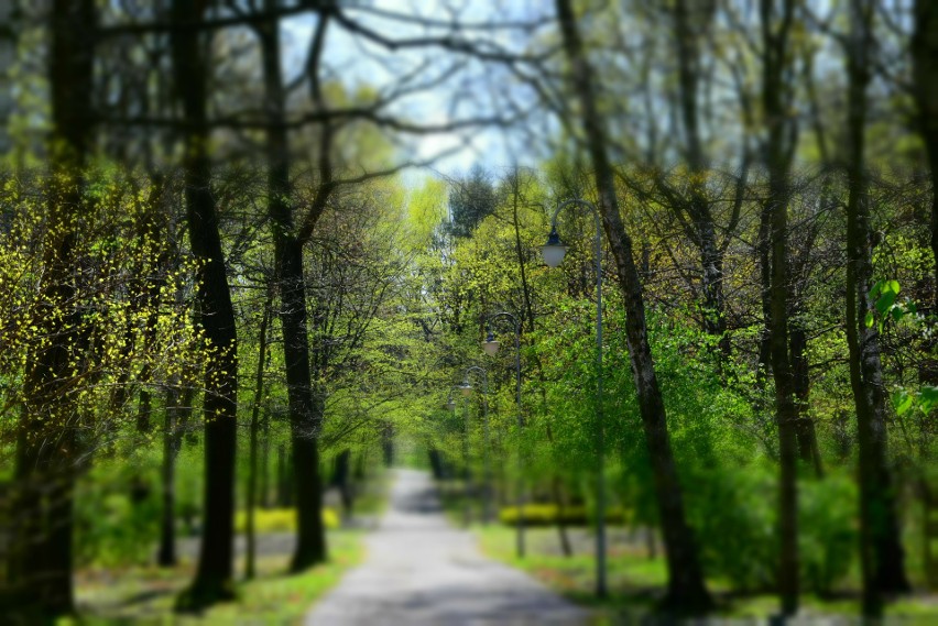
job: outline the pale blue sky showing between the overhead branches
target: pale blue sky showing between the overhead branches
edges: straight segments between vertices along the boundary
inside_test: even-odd
[[[363,4],[363,3],[362,3]],[[421,15],[434,20],[450,20],[458,15],[465,22],[488,22],[492,20],[524,20],[533,15],[549,14],[550,2],[546,0],[490,0],[487,2],[471,0],[375,0],[368,6],[379,10]],[[443,30],[427,30],[415,24],[407,24],[388,18],[375,17],[368,11],[355,9],[355,3],[347,6],[349,17],[388,37],[406,39],[427,35],[439,35]],[[287,79],[301,72],[306,56],[306,48],[315,26],[314,15],[303,15],[286,20],[283,23],[283,41],[285,48],[284,67]],[[480,31],[477,35],[495,40],[500,45],[520,50],[525,36],[513,33],[497,33]],[[401,77],[419,68],[423,76],[433,76],[446,70],[454,58],[438,48],[433,51],[401,50],[388,52],[383,47],[369,43],[362,36],[353,36],[340,26],[332,26],[326,39],[327,76],[339,78],[347,87],[368,85],[378,89],[389,89],[400,85]],[[503,89],[516,89],[508,80],[493,80],[492,68],[483,68],[481,64],[469,62],[455,79],[447,84],[421,90],[412,97],[402,99],[392,109],[396,114],[411,120],[426,123],[447,123],[456,119],[465,119],[478,114],[490,114],[492,102],[506,94],[498,94]],[[513,92],[513,97],[521,97]],[[468,143],[467,143],[468,141]],[[457,150],[433,165],[433,169],[444,176],[458,175],[467,172],[473,164],[480,163],[490,171],[528,161],[524,146],[506,136],[499,129],[477,130],[469,138],[455,134],[423,135],[407,142],[413,152],[412,158],[422,161],[430,158],[447,150]],[[405,182],[415,183],[427,175],[426,171],[410,171]]]

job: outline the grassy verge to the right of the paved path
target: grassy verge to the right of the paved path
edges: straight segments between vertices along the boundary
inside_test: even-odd
[[[514,529],[505,526],[473,527],[482,551],[489,557],[521,569],[542,581],[572,602],[597,611],[598,616],[615,620],[623,616],[641,619],[654,609],[656,600],[664,592],[667,581],[665,561],[651,559],[643,547],[633,543],[612,543],[608,557],[609,597],[599,600],[595,595],[596,561],[588,542],[575,542],[577,550],[571,557],[559,553],[557,531],[554,528],[531,528],[526,531],[527,556],[515,556]],[[582,534],[581,529],[576,530]],[[771,594],[734,594],[722,581],[708,581],[718,609],[716,617],[765,619],[775,614],[778,600]],[[804,616],[858,616],[858,593],[848,593],[837,598],[801,596]],[[888,605],[886,623],[903,626],[938,624],[938,596],[913,595]],[[601,623],[601,622],[600,622]]]

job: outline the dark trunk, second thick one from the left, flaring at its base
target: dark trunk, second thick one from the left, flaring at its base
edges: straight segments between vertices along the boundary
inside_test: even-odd
[[[205,2],[174,0],[173,20],[195,23]],[[218,213],[211,193],[208,154],[207,59],[196,29],[172,34],[176,94],[182,100],[188,135],[184,158],[186,217],[193,254],[201,263],[198,325],[214,356],[206,369],[205,491],[201,545],[192,586],[179,597],[179,609],[198,609],[233,597],[234,451],[237,435],[238,344],[234,309],[225,271]]]

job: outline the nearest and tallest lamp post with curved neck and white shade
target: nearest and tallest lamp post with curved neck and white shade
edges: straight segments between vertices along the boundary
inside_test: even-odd
[[[603,424],[602,424],[602,219],[596,205],[574,198],[560,202],[550,218],[550,234],[547,243],[541,248],[544,263],[556,267],[564,261],[567,246],[557,234],[557,216],[570,206],[589,209],[596,220],[596,455],[597,496],[596,496],[596,594],[606,597],[606,476],[603,470]]]

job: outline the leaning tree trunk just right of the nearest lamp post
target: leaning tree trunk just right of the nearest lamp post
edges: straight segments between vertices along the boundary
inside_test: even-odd
[[[570,0],[556,0],[556,7],[564,48],[571,65],[574,91],[581,106],[581,123],[592,158],[602,223],[625,301],[625,333],[632,374],[654,471],[667,551],[668,585],[663,604],[673,611],[701,613],[712,606],[712,601],[704,584],[697,545],[684,512],[684,495],[668,440],[664,402],[648,345],[642,285],[632,257],[632,240],[625,232],[619,212],[602,117],[596,105],[596,79],[583,52]]]

